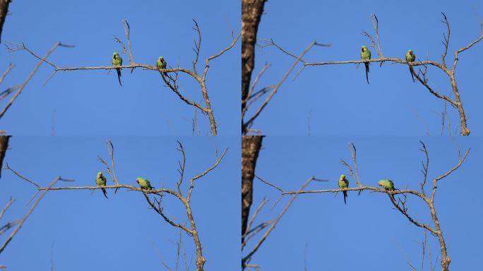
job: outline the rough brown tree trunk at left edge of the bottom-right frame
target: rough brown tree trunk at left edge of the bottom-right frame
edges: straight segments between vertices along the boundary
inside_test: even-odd
[[[262,138],[261,135],[241,137],[241,235],[246,231],[249,220],[256,159],[260,152]]]

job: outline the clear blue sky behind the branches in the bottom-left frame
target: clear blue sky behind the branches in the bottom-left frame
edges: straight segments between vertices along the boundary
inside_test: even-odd
[[[13,137],[6,161],[19,173],[47,186],[58,175],[76,179],[59,186],[89,186],[103,170],[97,155],[107,159],[104,137]],[[239,267],[240,144],[235,137],[113,137],[116,166],[121,183],[136,185],[137,176],[155,187],[175,188],[177,142],[186,151],[186,177],[200,174],[229,147],[217,169],[195,183],[193,215],[208,259],[206,270]],[[10,171],[2,172],[0,205],[16,198],[3,222],[23,217],[36,189]],[[185,181],[188,181],[186,179]],[[108,183],[112,180],[108,179]],[[186,184],[186,183],[185,183]],[[186,191],[186,186],[184,187]],[[162,260],[174,270],[179,232],[148,209],[140,193],[108,191],[50,191],[18,234],[0,255],[8,270],[49,270],[54,244],[55,270],[164,270]],[[186,212],[179,202],[165,197],[165,212],[181,223]],[[222,204],[220,204],[222,203]],[[8,234],[10,231],[8,232]],[[2,236],[2,243],[6,236]],[[188,260],[193,241],[183,234]],[[154,243],[154,245],[153,245]],[[195,255],[196,256],[196,255]],[[191,266],[190,270],[195,270]],[[180,268],[179,270],[184,270]]]

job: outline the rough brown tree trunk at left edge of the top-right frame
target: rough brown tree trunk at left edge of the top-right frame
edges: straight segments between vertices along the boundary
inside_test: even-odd
[[[249,93],[251,72],[255,66],[256,32],[266,0],[241,0],[241,100]],[[241,111],[245,107],[241,102]],[[244,127],[241,127],[242,132]]]

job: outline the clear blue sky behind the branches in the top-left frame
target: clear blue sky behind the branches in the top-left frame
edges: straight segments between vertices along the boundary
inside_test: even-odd
[[[75,48],[58,48],[49,57],[59,67],[109,66],[112,52],[122,52],[113,35],[125,41],[121,21],[129,20],[134,60],[155,64],[164,56],[168,64],[191,68],[192,30],[196,19],[201,28],[203,71],[206,57],[220,52],[241,28],[240,6],[234,1],[13,1],[9,8],[2,45],[25,42],[44,55],[57,41]],[[220,135],[239,134],[240,42],[219,59],[210,62],[207,88]],[[127,57],[121,54],[124,63]],[[2,46],[0,71],[16,64],[1,90],[23,83],[37,64],[27,52],[11,55]],[[47,85],[52,67],[42,65],[0,127],[13,135],[49,135],[54,114],[57,135],[191,135],[193,107],[165,88],[154,71],[138,68],[123,71],[119,86],[115,72],[73,71],[57,73]],[[182,92],[202,102],[196,81],[180,74]],[[6,101],[1,102],[4,107]],[[198,112],[199,113],[199,112]],[[198,114],[203,135],[210,134],[208,119]],[[142,121],[141,121],[142,120]]]

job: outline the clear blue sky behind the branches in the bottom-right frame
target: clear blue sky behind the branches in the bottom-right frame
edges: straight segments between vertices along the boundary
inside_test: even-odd
[[[330,181],[311,183],[307,189],[337,188],[340,174],[349,174],[339,160],[350,162],[347,143],[353,141],[364,185],[376,186],[380,179],[393,179],[396,188],[417,189],[424,158],[419,140],[429,150],[431,180],[458,162],[457,147],[462,151],[472,147],[463,166],[439,183],[435,199],[451,268],[472,270],[483,253],[483,220],[477,215],[483,200],[479,191],[468,185],[477,185],[481,179],[475,169],[483,159],[482,138],[275,136],[263,140],[256,174],[286,191],[297,191],[312,175]],[[355,186],[352,178],[349,180],[350,186]],[[255,207],[264,196],[270,199],[258,222],[276,217],[289,200],[282,199],[270,211],[280,195],[278,191],[258,180],[254,191]],[[430,222],[429,211],[417,198],[410,197],[408,203],[411,215]],[[422,229],[394,210],[387,195],[363,192],[357,196],[352,192],[347,205],[342,193],[336,197],[333,193],[299,195],[251,263],[261,265],[263,270],[303,270],[307,243],[309,270],[409,270],[405,257],[420,267],[423,238]],[[428,240],[433,257],[441,255],[436,238],[428,236]],[[428,263],[424,270],[429,270]]]

